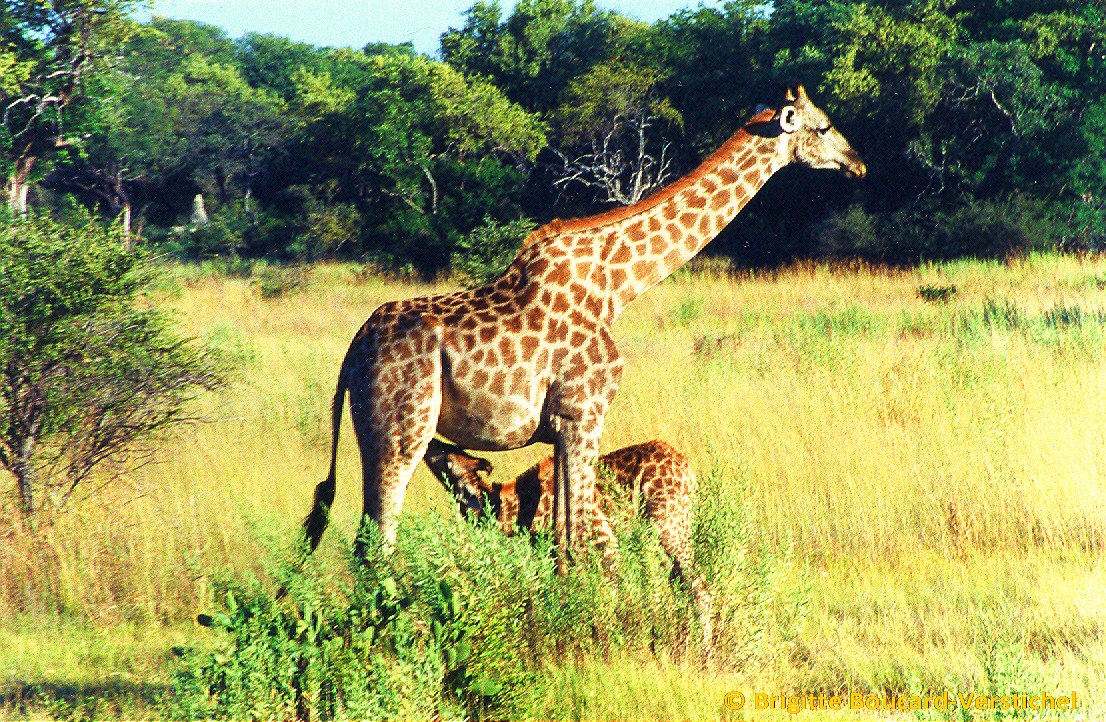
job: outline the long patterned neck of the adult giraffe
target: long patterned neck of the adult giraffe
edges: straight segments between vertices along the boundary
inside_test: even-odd
[[[613,316],[691,260],[787,165],[790,136],[755,135],[757,121],[674,184],[678,190],[667,200],[619,223],[607,257]]]

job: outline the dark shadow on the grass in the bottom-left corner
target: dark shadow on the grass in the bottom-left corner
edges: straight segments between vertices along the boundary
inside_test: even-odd
[[[157,716],[167,684],[103,680],[87,684],[20,682],[0,687],[0,716],[104,720]]]

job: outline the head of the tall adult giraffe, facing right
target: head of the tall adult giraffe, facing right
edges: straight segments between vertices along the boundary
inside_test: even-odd
[[[786,103],[776,112],[780,129],[791,136],[791,159],[811,168],[841,170],[852,178],[863,178],[867,167],[821,108],[799,85],[787,88]]]

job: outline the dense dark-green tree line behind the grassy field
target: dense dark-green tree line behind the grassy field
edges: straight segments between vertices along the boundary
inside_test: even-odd
[[[13,212],[30,189],[31,206],[81,205],[182,255],[430,274],[474,239],[510,247],[504,229],[643,198],[797,80],[870,177],[781,174],[713,252],[1106,245],[1100,2],[737,0],[646,24],[589,0],[479,0],[437,59],[135,24],[133,4],[0,10]]]

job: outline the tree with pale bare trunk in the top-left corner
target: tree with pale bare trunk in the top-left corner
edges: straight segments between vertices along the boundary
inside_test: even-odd
[[[35,163],[77,143],[83,84],[117,61],[138,0],[13,0],[0,7],[0,148],[9,208],[27,211]]]

